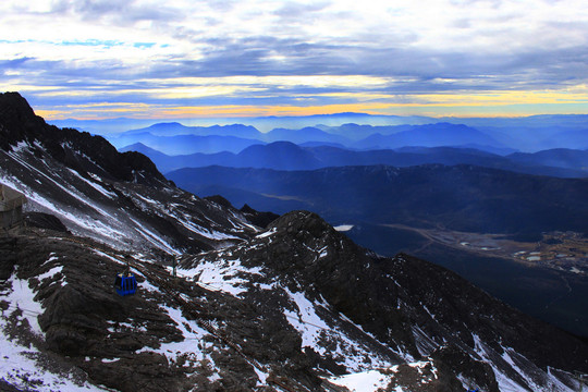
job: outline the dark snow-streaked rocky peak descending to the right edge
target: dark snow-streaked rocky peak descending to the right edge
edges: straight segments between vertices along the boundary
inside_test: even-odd
[[[368,376],[380,369],[384,387],[413,390],[394,376],[404,364],[431,390],[572,391],[571,375],[555,369],[588,365],[583,342],[440,267],[407,255],[377,257],[310,212],[285,215],[246,243],[186,258],[180,273],[281,319],[315,368]],[[345,384],[350,377],[331,380]]]

